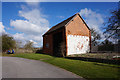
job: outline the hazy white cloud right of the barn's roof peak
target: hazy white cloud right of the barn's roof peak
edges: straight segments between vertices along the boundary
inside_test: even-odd
[[[81,9],[79,13],[84,18],[87,25],[90,28],[95,29],[95,31],[98,32],[102,38],[104,38],[103,32],[100,29],[104,23],[103,16],[87,8]]]

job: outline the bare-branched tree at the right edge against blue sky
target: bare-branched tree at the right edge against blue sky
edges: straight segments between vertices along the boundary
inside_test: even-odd
[[[120,39],[120,2],[118,2],[118,9],[111,12],[112,16],[109,17],[105,32],[109,35],[107,38]]]

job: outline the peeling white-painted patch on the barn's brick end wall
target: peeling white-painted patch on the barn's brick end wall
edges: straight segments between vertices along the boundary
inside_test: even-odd
[[[89,37],[79,35],[67,36],[67,52],[71,54],[84,54],[90,51]]]

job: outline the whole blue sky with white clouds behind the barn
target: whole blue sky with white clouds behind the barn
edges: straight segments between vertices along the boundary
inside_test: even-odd
[[[7,33],[23,44],[32,41],[40,47],[42,35],[48,29],[80,13],[88,26],[102,35],[103,23],[117,7],[117,2],[2,2],[0,33]]]

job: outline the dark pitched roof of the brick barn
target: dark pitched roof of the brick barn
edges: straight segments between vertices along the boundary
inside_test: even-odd
[[[66,25],[67,23],[69,23],[76,15],[79,15],[79,16],[80,16],[79,13],[74,14],[73,16],[69,17],[68,19],[66,19],[66,20],[60,22],[59,24],[53,26],[52,28],[50,28],[44,35],[49,34],[49,33],[53,32],[53,31],[55,31],[55,30],[57,30],[57,29],[60,29],[60,28],[62,28],[62,27],[65,27],[65,25]],[[82,19],[81,16],[80,16],[80,18]],[[82,19],[82,21],[85,23],[85,21],[84,21],[83,19]],[[86,23],[85,23],[85,25],[87,26]],[[87,26],[87,28],[89,29],[88,26]],[[89,29],[89,30],[90,30],[90,29]]]

